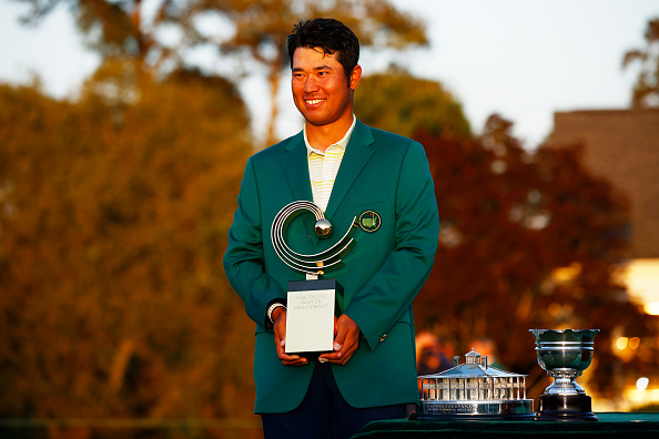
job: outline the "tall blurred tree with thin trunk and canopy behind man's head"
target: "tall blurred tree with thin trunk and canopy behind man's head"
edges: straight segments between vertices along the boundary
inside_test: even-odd
[[[27,22],[38,22],[59,3],[68,3],[89,45],[107,61],[133,60],[138,73],[166,73],[193,63],[192,57],[184,58],[201,47],[234,57],[242,65],[236,80],[245,71],[262,69],[271,92],[268,144],[275,141],[276,95],[282,69],[288,63],[286,37],[300,20],[336,18],[355,31],[362,47],[427,44],[424,24],[388,0],[159,0],[150,8],[141,0],[18,1],[31,6]]]

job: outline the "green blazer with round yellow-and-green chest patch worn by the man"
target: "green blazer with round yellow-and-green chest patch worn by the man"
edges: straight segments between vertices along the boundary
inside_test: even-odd
[[[313,371],[314,361],[281,363],[265,321],[268,303],[286,297],[288,280],[305,278],[280,261],[270,239],[275,215],[294,201],[313,201],[302,132],[247,161],[224,255],[226,276],[256,323],[257,414],[297,407]],[[315,220],[305,214],[288,226],[286,243],[298,253],[318,253],[367,211],[379,216],[379,227],[357,229],[345,265],[324,276],[343,285],[342,313],[363,335],[345,366],[332,365],[343,397],[358,408],[418,399],[412,302],[433,266],[439,220],[423,146],[357,121],[325,211],[334,234],[318,239]]]

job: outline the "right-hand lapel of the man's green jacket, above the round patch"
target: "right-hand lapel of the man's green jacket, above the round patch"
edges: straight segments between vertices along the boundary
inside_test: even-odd
[[[348,142],[345,155],[341,162],[341,167],[336,174],[334,187],[332,187],[332,195],[330,195],[330,203],[325,211],[325,217],[331,220],[348,190],[359,175],[371,156],[375,152],[371,145],[375,142],[371,129],[359,122],[355,124],[351,141]],[[307,170],[308,173],[308,170]]]

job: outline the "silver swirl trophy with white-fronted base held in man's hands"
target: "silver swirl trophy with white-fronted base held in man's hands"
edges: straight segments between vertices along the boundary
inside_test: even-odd
[[[271,238],[273,247],[284,264],[306,275],[306,280],[288,282],[286,295],[286,354],[308,357],[312,353],[331,353],[334,345],[334,317],[337,300],[343,299],[343,287],[336,279],[325,279],[326,270],[343,265],[342,258],[355,244],[352,235],[356,217],[348,231],[332,247],[316,254],[301,254],[288,247],[285,237],[288,225],[303,213],[312,213],[316,223],[314,232],[321,238],[333,233],[332,224],[323,211],[307,201],[293,202],[275,216]]]

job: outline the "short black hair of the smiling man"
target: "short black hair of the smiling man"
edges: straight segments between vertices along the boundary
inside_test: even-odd
[[[288,57],[293,68],[293,53],[297,48],[321,48],[326,54],[337,53],[336,60],[343,65],[348,80],[359,62],[359,40],[344,23],[334,19],[317,18],[301,21],[288,35]]]

